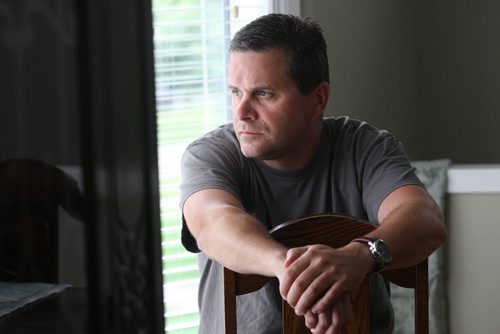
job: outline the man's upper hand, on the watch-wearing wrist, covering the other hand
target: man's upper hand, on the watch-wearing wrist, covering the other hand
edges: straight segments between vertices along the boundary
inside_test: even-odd
[[[324,245],[292,248],[278,277],[280,293],[297,315],[324,313],[342,294],[358,286],[373,266],[368,248],[358,243],[339,249]]]

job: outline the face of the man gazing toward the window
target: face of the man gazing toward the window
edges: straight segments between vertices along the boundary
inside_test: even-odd
[[[301,94],[281,50],[233,52],[229,61],[233,124],[246,157],[279,169],[302,167],[318,131],[314,93]],[[315,149],[316,147],[314,147]]]

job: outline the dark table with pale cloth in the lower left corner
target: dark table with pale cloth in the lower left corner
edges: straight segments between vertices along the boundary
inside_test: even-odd
[[[0,319],[2,334],[89,334],[87,292],[68,288]]]

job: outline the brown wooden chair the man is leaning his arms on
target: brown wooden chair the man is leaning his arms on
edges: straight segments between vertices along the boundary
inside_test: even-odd
[[[324,244],[339,248],[354,238],[366,235],[375,227],[364,220],[338,214],[321,214],[297,219],[274,228],[271,235],[287,247]],[[415,290],[415,333],[429,331],[427,260],[416,266],[387,270],[384,278],[394,284]],[[226,334],[236,334],[236,296],[262,288],[271,278],[242,275],[224,268],[224,312]],[[351,291],[354,321],[351,333],[369,332],[368,279]],[[283,333],[310,333],[303,317],[283,301]]]

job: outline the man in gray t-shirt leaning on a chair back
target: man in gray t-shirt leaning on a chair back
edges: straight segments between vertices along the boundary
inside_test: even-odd
[[[329,72],[317,23],[266,15],[242,28],[229,51],[232,124],[192,143],[182,161],[183,243],[201,250],[200,333],[223,333],[221,266],[278,278],[238,297],[238,333],[280,333],[281,297],[312,332],[343,333],[352,315],[347,291],[444,242],[439,209],[398,140],[347,117],[323,118]],[[363,242],[286,249],[268,235],[323,212],[380,223],[367,237],[385,253]],[[370,330],[388,333],[387,287],[370,277]]]

